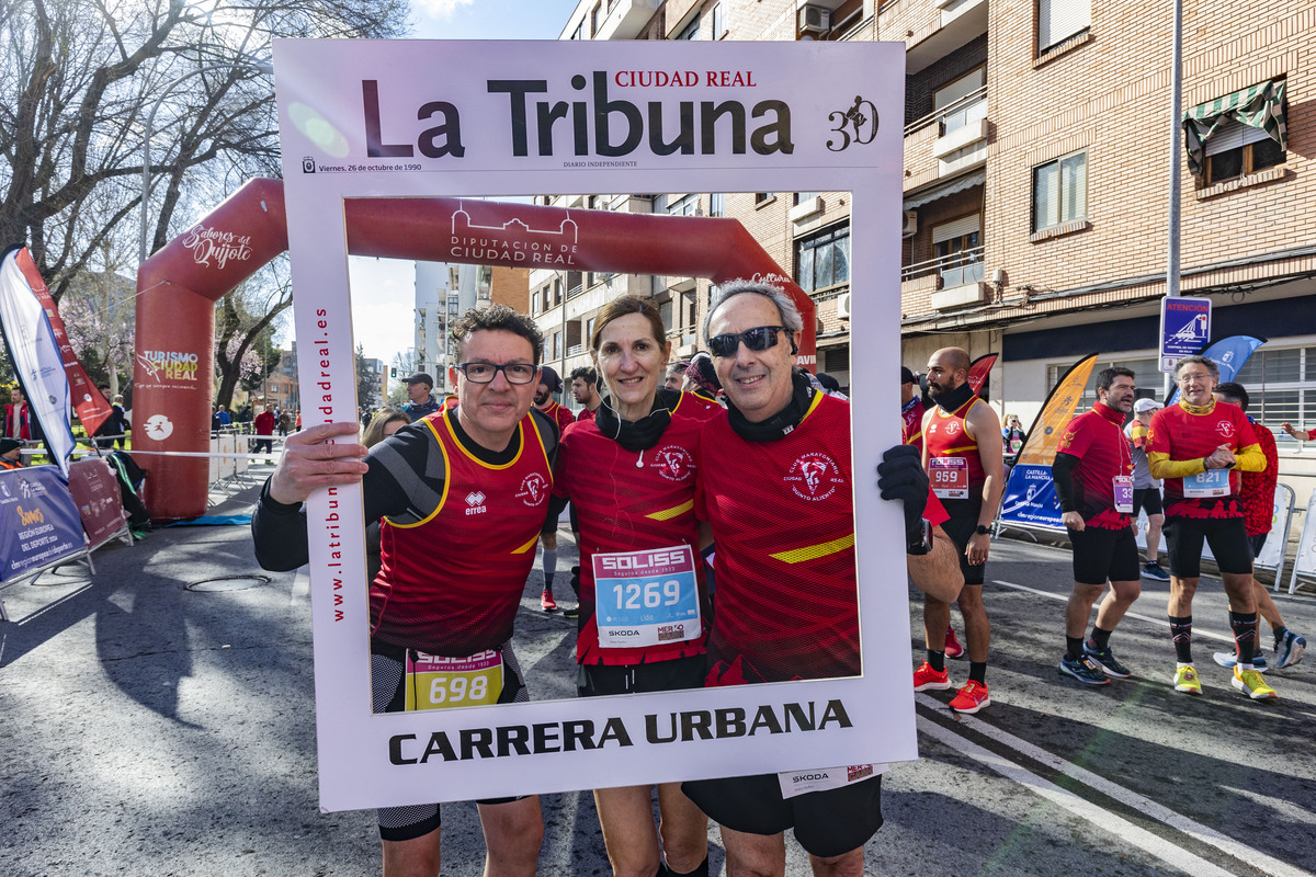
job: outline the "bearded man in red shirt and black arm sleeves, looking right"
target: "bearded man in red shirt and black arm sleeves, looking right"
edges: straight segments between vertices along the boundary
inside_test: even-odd
[[[1096,376],[1096,404],[1065,430],[1051,463],[1061,519],[1074,546],[1074,590],[1065,609],[1065,656],[1059,672],[1087,685],[1128,678],[1115,660],[1111,634],[1141,593],[1138,544],[1133,538],[1133,452],[1124,418],[1133,410],[1133,371],[1107,368]],[[1092,604],[1092,638],[1083,642]]]

